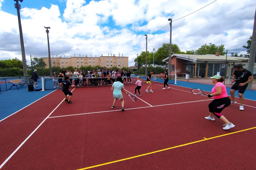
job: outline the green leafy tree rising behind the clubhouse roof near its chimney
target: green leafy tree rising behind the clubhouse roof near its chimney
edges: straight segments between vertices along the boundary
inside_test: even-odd
[[[199,49],[195,51],[196,55],[206,55],[206,54],[215,54],[217,50],[220,51],[220,55],[225,55],[226,52],[224,52],[224,45],[221,44],[219,46],[216,46],[215,44],[210,43],[207,45],[206,43],[202,45]]]

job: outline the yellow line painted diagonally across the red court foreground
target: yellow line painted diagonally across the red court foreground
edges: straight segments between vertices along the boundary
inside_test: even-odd
[[[161,151],[166,151],[166,150],[170,150],[170,149],[173,149],[173,148],[178,148],[178,147],[181,147],[181,146],[186,146],[186,145],[193,144],[193,143],[203,142],[203,141],[210,140],[210,139],[214,139],[214,138],[217,138],[217,137],[222,137],[222,136],[226,136],[226,135],[231,135],[231,134],[235,134],[235,133],[238,133],[238,132],[243,132],[243,131],[251,130],[251,129],[255,129],[255,128],[256,128],[256,127],[254,127],[254,128],[249,128],[249,129],[244,129],[244,130],[240,130],[240,131],[236,131],[236,132],[232,132],[232,133],[228,133],[228,134],[224,134],[224,135],[219,135],[219,136],[210,137],[210,138],[207,138],[207,139],[204,138],[203,140],[199,140],[199,141],[195,141],[195,142],[190,142],[190,143],[185,143],[185,144],[182,144],[182,145],[173,146],[173,147],[171,147],[171,148],[166,148],[166,149],[162,149],[162,150],[159,150],[159,151],[149,152],[149,153],[145,153],[145,154],[133,156],[133,157],[130,157],[130,158],[119,159],[119,160],[115,160],[115,161],[112,161],[112,162],[107,162],[107,163],[104,163],[104,164],[89,166],[89,167],[82,168],[82,169],[78,169],[78,170],[90,169],[90,168],[95,168],[95,167],[98,167],[98,166],[108,165],[108,164],[112,164],[112,163],[116,163],[116,162],[120,162],[120,161],[124,161],[124,160],[128,160],[128,159],[138,158],[138,157],[141,157],[141,156],[150,155],[150,154],[157,153],[157,152],[161,152]]]

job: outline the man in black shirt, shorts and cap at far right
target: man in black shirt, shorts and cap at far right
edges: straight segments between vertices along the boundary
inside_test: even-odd
[[[230,96],[231,96],[231,104],[236,104],[235,101],[235,91],[238,90],[238,96],[240,100],[240,108],[239,110],[244,110],[244,92],[248,86],[248,83],[253,81],[252,73],[246,69],[243,69],[242,64],[236,64],[234,66],[235,72],[234,76],[232,77],[232,83],[235,84],[230,89]],[[248,80],[249,78],[249,80]]]

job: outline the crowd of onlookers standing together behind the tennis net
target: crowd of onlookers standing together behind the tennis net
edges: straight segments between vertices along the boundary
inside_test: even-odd
[[[82,86],[99,86],[99,85],[112,85],[115,81],[117,76],[121,76],[123,78],[123,82],[126,83],[126,78],[129,83],[132,83],[131,81],[131,72],[128,69],[127,71],[119,69],[116,71],[115,69],[113,70],[108,69],[108,68],[103,68],[103,70],[90,70],[90,71],[85,71],[85,70],[77,70],[75,69],[75,72],[71,72],[71,70],[66,70],[65,68],[59,75],[56,75],[54,72],[52,77],[53,77],[53,86],[56,88],[56,86],[60,89],[61,87],[58,86],[57,84],[57,78],[64,78],[64,76],[69,77],[69,81],[75,85],[75,87],[82,87]],[[54,79],[56,78],[56,79]],[[86,79],[85,79],[86,78]],[[72,82],[74,79],[74,83]],[[58,79],[59,84],[61,83],[62,79]],[[56,85],[55,85],[56,84]]]

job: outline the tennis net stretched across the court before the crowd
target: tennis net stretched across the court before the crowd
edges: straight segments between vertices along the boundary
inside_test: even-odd
[[[147,76],[140,76],[141,84],[147,84]],[[89,88],[89,87],[108,87],[111,86],[117,79],[117,77],[95,77],[95,78],[76,78],[72,77],[70,82],[78,88]],[[81,80],[80,80],[81,79]],[[58,89],[59,82],[64,80],[63,78],[53,78],[53,77],[44,77],[43,88],[44,90],[52,90]],[[164,83],[164,75],[151,76],[151,83]],[[124,85],[135,85],[137,81],[137,76],[134,77],[124,77],[123,83]],[[176,84],[176,75],[169,74],[168,84]],[[71,87],[70,87],[71,88]]]

